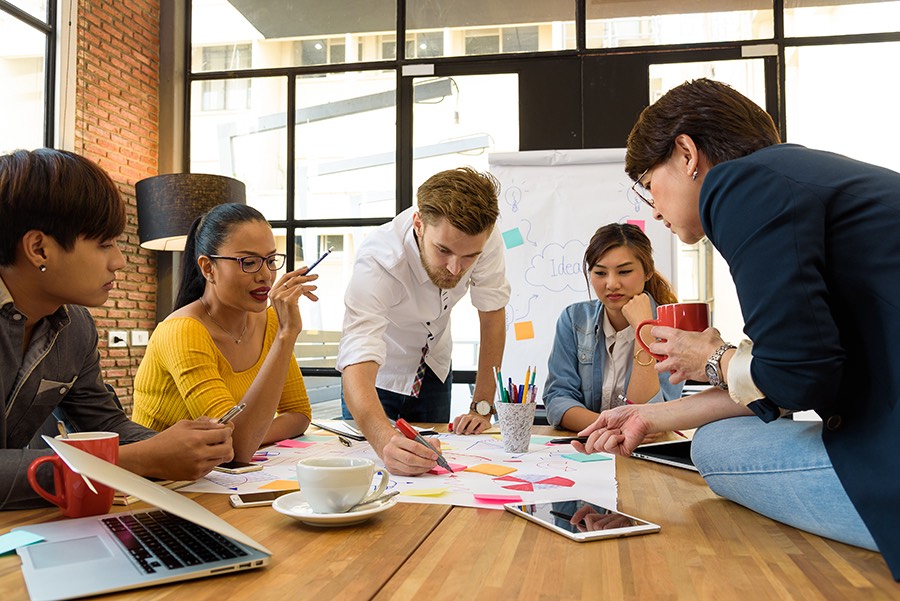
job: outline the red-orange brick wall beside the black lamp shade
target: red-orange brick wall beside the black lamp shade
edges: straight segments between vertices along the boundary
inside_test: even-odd
[[[107,332],[156,323],[153,251],[138,246],[134,185],[159,163],[159,0],[79,0],[75,151],[106,169],[128,205],[120,240],[127,265],[92,309],[103,376],[130,413],[144,347],[107,348]]]

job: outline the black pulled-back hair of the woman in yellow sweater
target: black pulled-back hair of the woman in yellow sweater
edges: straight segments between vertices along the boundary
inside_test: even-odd
[[[265,216],[253,207],[236,202],[215,206],[194,220],[184,243],[181,283],[175,298],[176,309],[194,302],[203,296],[206,289],[206,279],[200,273],[197,259],[202,255],[219,254],[219,248],[225,243],[231,230],[237,225],[251,221],[269,223]]]

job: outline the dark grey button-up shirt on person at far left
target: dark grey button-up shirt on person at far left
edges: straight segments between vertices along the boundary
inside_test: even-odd
[[[32,461],[52,454],[33,439],[55,433],[57,407],[75,430],[117,432],[120,443],[155,434],[130,421],[103,383],[97,329],[87,309],[66,305],[40,320],[23,353],[26,319],[0,279],[0,509],[46,505],[26,475]],[[38,479],[53,491],[51,469],[41,468]]]

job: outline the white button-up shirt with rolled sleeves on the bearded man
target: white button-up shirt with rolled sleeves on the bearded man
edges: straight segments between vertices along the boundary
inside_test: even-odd
[[[360,245],[344,295],[344,334],[336,367],[374,361],[375,385],[409,394],[422,347],[428,366],[446,381],[453,340],[450,311],[470,292],[479,311],[496,311],[509,302],[503,241],[495,227],[483,252],[455,288],[442,290],[422,267],[413,233],[411,207],[377,228]]]

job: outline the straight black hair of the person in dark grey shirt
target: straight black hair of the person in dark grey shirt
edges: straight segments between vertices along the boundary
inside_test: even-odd
[[[0,156],[0,265],[12,265],[27,232],[52,236],[66,251],[79,237],[111,240],[125,231],[125,203],[109,175],[65,150]]]

